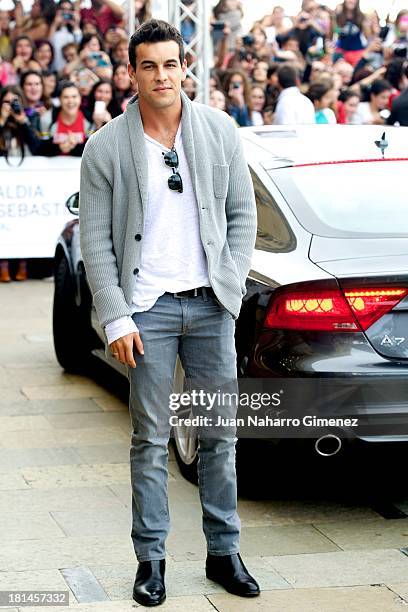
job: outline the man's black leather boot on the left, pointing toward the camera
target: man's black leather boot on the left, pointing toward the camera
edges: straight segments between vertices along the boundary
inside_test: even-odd
[[[142,606],[158,606],[166,599],[165,559],[141,561],[136,572],[133,599]]]

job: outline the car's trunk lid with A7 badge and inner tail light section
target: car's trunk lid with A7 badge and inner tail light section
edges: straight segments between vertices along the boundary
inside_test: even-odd
[[[337,278],[357,319],[364,301],[374,318],[377,312],[363,325],[373,348],[408,364],[408,239],[314,236],[309,257]]]

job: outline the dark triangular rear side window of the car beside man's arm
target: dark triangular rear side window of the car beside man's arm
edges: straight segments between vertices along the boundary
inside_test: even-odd
[[[296,248],[296,238],[270,191],[251,170],[255,191],[258,229],[255,248],[272,253],[287,253]]]

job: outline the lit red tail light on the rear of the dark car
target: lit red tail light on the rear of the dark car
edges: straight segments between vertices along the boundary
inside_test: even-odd
[[[355,332],[366,330],[408,294],[404,288],[347,290],[337,285],[297,285],[278,290],[265,326],[274,329]]]

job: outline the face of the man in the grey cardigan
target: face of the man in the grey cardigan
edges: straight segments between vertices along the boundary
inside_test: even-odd
[[[187,64],[180,64],[179,46],[173,41],[142,43],[136,50],[136,70],[128,65],[132,81],[136,81],[139,97],[155,109],[169,108],[180,97],[181,83],[186,78]]]

